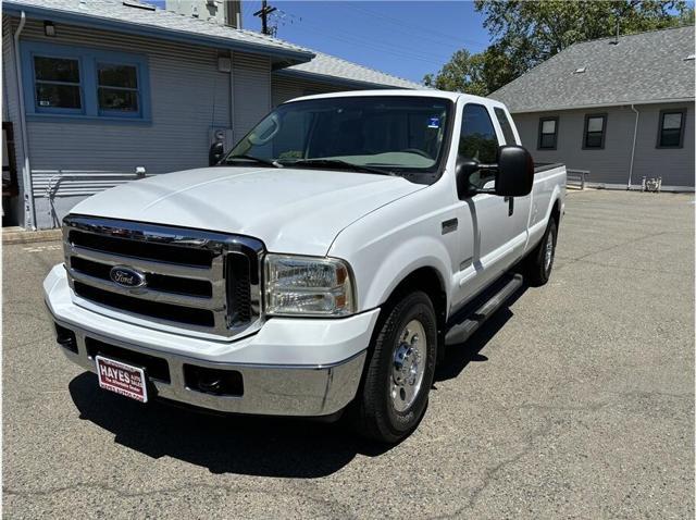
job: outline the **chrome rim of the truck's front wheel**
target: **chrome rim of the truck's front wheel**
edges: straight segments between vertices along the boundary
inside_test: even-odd
[[[391,387],[389,395],[395,410],[406,411],[418,398],[427,359],[425,327],[418,320],[411,320],[398,335],[391,366]]]

